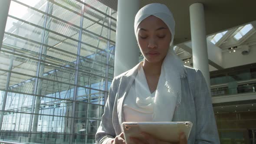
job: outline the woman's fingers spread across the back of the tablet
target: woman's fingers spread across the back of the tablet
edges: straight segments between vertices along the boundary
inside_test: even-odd
[[[151,136],[150,134],[146,134],[146,133],[142,133],[145,137],[145,140],[147,141],[147,143],[144,143],[142,141],[140,141],[138,138],[135,137],[131,137],[131,141],[133,141],[135,144],[171,144],[165,141],[160,141],[159,139]],[[184,135],[184,133],[180,134],[180,142],[179,143],[172,143],[172,144],[187,144],[187,139]]]

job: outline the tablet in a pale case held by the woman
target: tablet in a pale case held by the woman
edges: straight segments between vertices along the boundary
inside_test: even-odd
[[[181,132],[184,132],[188,139],[192,122],[180,121],[180,122],[123,122],[122,128],[125,135],[126,144],[134,144],[130,137],[136,137],[141,141],[144,140],[144,136],[141,132],[148,133],[161,141],[165,142],[179,142]]]

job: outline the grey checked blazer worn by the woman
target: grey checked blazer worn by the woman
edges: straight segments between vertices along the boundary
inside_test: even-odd
[[[110,86],[102,121],[95,135],[97,144],[105,144],[119,135],[125,121],[123,103],[138,73],[139,65],[116,76]],[[181,105],[172,121],[191,121],[188,144],[220,144],[212,101],[202,72],[186,66],[187,78],[181,79]]]

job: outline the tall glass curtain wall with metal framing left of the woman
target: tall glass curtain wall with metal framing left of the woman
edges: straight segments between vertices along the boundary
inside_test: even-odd
[[[97,0],[11,0],[0,139],[95,143],[113,79],[116,16]]]

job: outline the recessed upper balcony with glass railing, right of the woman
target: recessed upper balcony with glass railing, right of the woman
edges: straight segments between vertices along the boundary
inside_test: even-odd
[[[256,91],[255,65],[210,72],[211,95],[236,95]]]

